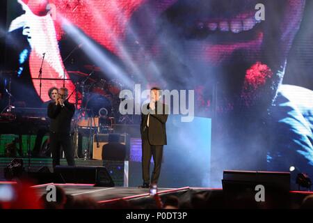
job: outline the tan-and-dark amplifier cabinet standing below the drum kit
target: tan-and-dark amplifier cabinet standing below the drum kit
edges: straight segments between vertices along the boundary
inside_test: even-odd
[[[93,136],[93,159],[129,160],[129,135],[126,133],[95,134]]]

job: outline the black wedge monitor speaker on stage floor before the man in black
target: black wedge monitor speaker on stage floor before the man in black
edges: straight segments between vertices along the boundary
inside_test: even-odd
[[[56,166],[56,183],[86,183],[96,187],[114,187],[114,182],[105,167]]]

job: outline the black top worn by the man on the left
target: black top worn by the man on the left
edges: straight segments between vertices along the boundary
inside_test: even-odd
[[[51,118],[51,132],[70,133],[72,117],[75,112],[75,106],[65,100],[64,107],[56,102],[50,102],[48,105],[48,116]]]

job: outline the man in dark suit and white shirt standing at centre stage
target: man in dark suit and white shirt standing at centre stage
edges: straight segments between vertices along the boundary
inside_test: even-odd
[[[161,89],[154,87],[150,91],[150,103],[143,105],[141,112],[142,168],[143,185],[150,187],[150,160],[153,157],[154,169],[151,184],[157,185],[163,156],[163,145],[166,141],[166,121],[168,106],[159,101]]]

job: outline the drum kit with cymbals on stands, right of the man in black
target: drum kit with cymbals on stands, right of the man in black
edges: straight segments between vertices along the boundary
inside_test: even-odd
[[[100,68],[95,66],[85,66],[92,72],[88,75],[82,72],[69,71],[70,75],[79,77],[74,82],[76,89],[76,108],[74,115],[74,147],[75,155],[78,155],[79,133],[84,132],[88,137],[88,147],[94,134],[113,133],[113,125],[133,124],[133,116],[121,115],[118,112],[121,99],[120,91],[125,89],[125,85],[118,79],[106,80],[103,78],[94,79],[93,72]],[[74,92],[73,92],[74,93]],[[90,151],[90,149],[88,149]]]

